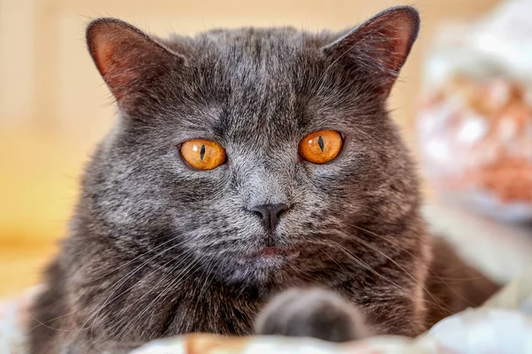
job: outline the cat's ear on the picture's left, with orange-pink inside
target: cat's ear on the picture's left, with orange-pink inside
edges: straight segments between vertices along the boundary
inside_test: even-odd
[[[120,19],[90,22],[87,45],[119,105],[127,104],[129,94],[184,64],[184,57]]]

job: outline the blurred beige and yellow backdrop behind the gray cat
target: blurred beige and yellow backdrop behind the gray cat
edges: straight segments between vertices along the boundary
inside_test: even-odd
[[[447,97],[443,94],[464,90],[469,82],[456,81],[454,75],[450,82],[458,85],[458,89],[442,89],[449,86],[448,81],[436,83],[440,91],[430,89],[427,75],[441,74],[443,69],[438,60],[448,55],[445,52],[434,57],[437,53],[434,43],[444,43],[442,49],[456,46],[454,42],[464,39],[467,32],[464,27],[453,27],[454,32],[447,35],[451,40],[438,40],[447,33],[440,26],[450,19],[475,23],[484,19],[486,13],[492,13],[498,3],[496,0],[424,0],[414,4],[422,16],[421,34],[403,68],[402,79],[395,86],[390,106],[416,155],[423,160],[420,152],[429,152],[425,154],[429,161],[426,169],[436,172],[433,174],[441,176],[442,165],[430,165],[433,157],[430,152],[438,150],[430,142],[419,139],[419,119],[428,117],[431,121],[431,117],[441,115],[435,111],[437,102]],[[84,28],[90,19],[118,17],[157,35],[172,31],[193,34],[210,27],[292,25],[309,30],[340,29],[352,27],[396,4],[401,3],[396,0],[0,0],[0,297],[10,296],[38,281],[43,266],[57,251],[59,239],[65,236],[82,166],[115,119],[111,96],[85,47]],[[452,56],[456,57],[455,54],[453,51]],[[471,56],[458,53],[458,58]],[[427,65],[429,62],[432,66]],[[483,102],[482,96],[478,100]],[[434,133],[431,130],[434,125],[423,127],[428,129],[426,132]],[[442,128],[436,127],[436,133]],[[473,133],[467,136],[478,133],[475,132],[473,127]],[[429,133],[425,137],[432,136]],[[458,151],[458,155],[462,152]],[[434,193],[428,191],[442,183],[437,179],[428,181],[427,200],[436,200]],[[452,230],[459,226],[453,234],[458,240],[464,238],[464,233],[484,232],[465,227],[471,227],[476,222],[471,220],[477,219],[473,213],[469,221],[460,219],[458,208],[467,208],[465,204],[457,208],[441,205],[434,203],[426,209],[434,227],[453,234]],[[526,239],[530,234],[527,227],[507,227],[498,221],[493,225],[502,227],[497,235],[522,234]],[[493,230],[493,225],[486,229]],[[517,248],[530,250],[523,244]],[[511,271],[517,272],[527,259]]]

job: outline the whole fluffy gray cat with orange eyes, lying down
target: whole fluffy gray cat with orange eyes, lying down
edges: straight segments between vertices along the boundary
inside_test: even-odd
[[[341,33],[90,23],[121,114],[82,178],[31,353],[190,332],[414,336],[481,304],[497,286],[427,234],[387,114],[418,31],[411,7]]]

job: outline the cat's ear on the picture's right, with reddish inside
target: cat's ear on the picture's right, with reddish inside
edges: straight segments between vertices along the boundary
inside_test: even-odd
[[[353,65],[372,76],[388,96],[419,32],[419,13],[411,6],[380,12],[322,48],[335,62]]]

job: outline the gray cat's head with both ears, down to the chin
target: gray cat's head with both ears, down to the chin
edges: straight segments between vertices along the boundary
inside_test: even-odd
[[[124,252],[230,282],[302,277],[356,253],[360,227],[417,213],[386,99],[418,30],[411,7],[339,34],[161,40],[92,22],[90,54],[121,117],[86,173],[78,219]]]

